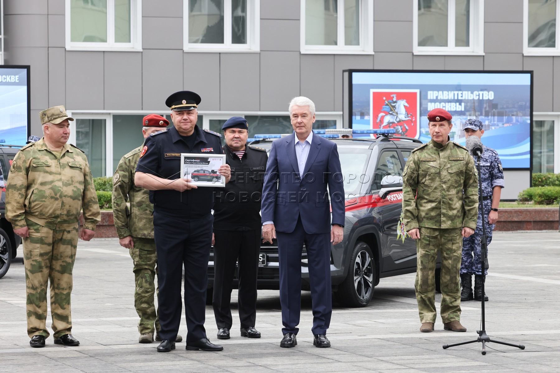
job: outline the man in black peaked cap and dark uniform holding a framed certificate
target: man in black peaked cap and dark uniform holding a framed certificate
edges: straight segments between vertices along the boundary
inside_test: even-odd
[[[207,269],[212,240],[214,187],[197,187],[180,177],[181,153],[223,154],[221,135],[197,126],[200,96],[190,91],[172,94],[173,126],[151,134],[144,143],[134,182],[150,190],[160,287],[158,352],[175,350],[181,322],[181,275],[185,267],[186,350],[221,351],[204,329]],[[218,172],[230,180],[230,166]]]

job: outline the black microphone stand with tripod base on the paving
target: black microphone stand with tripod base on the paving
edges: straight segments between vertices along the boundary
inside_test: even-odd
[[[482,328],[477,330],[478,338],[474,339],[473,341],[461,342],[461,343],[454,343],[454,344],[444,344],[444,350],[449,347],[461,346],[461,344],[469,344],[474,342],[482,342],[482,355],[486,355],[486,343],[487,342],[494,342],[499,344],[505,344],[506,346],[512,346],[521,348],[521,350],[525,350],[525,346],[522,344],[513,344],[508,342],[496,341],[495,339],[490,339],[488,334],[486,334],[486,325],[484,320],[484,282],[486,282],[486,274],[484,270],[488,269],[488,258],[487,255],[487,241],[486,241],[486,219],[484,219],[484,204],[482,201],[482,178],[480,177],[480,156],[482,155],[480,152],[477,152],[477,171],[478,171],[478,205],[480,206],[480,210],[482,212],[482,237],[480,238],[480,265],[482,268],[482,300],[480,301],[480,313],[482,317]]]

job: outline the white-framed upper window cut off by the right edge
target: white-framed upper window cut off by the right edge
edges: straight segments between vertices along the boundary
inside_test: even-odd
[[[560,55],[557,0],[524,0],[523,51],[526,55]]]

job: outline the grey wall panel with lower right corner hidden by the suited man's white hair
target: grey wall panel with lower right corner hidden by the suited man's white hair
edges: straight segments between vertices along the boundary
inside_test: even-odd
[[[300,95],[300,53],[260,53],[260,110],[286,111]]]

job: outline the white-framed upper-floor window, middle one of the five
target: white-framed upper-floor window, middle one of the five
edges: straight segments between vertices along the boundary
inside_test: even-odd
[[[301,53],[373,54],[373,0],[301,0]]]

